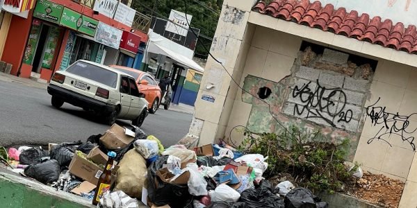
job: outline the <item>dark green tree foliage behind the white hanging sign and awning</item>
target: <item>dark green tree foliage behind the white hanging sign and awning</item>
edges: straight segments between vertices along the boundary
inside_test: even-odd
[[[178,10],[193,15],[190,26],[199,28],[200,34],[213,38],[217,28],[223,0],[186,0],[187,11],[183,0],[133,0],[132,8],[142,14],[167,19],[171,10]],[[199,40],[210,49],[211,40],[199,37]],[[204,50],[202,43],[198,42],[195,49],[195,56],[207,58],[208,53]]]

